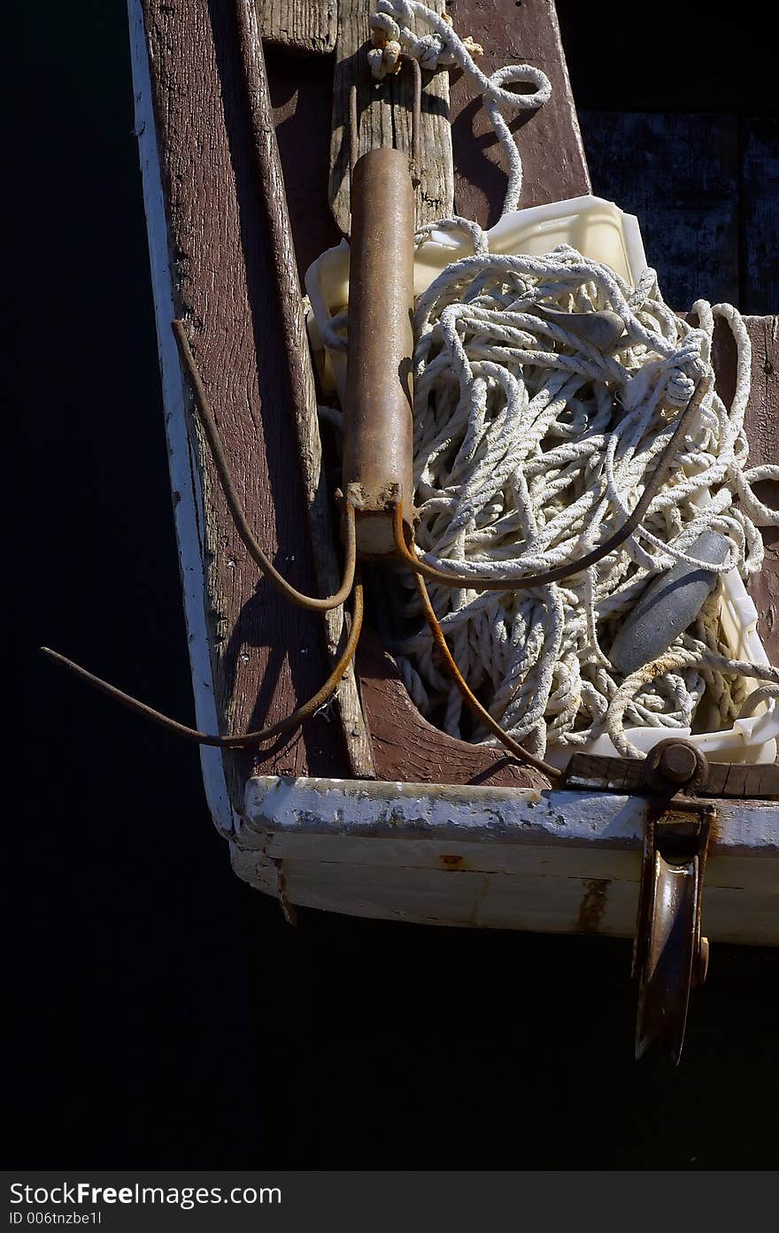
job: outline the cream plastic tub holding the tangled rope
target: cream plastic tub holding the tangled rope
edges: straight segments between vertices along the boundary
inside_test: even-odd
[[[634,285],[647,264],[637,218],[603,197],[573,197],[531,210],[516,210],[504,215],[487,234],[493,253],[542,256],[558,244],[571,244],[584,256],[609,265]],[[417,250],[414,293],[420,295],[441,270],[472,252],[467,234],[434,231]],[[343,406],[346,358],[343,351],[323,346],[320,328],[343,312],[349,302],[349,245],[345,240],[338,248],[328,249],[308,268],[306,291],[312,309],[308,313],[308,332],[318,374],[323,388],[335,391]],[[768,663],[757,635],[757,609],[735,570],[720,581],[720,604],[722,630],[733,657]],[[747,682],[748,692],[758,684],[757,681]],[[704,698],[701,707],[705,705]],[[631,727],[626,729],[626,734],[643,752],[673,735],[689,737],[715,762],[773,762],[779,737],[779,704],[764,702],[756,708],[754,715],[737,719],[732,727],[722,731],[690,734],[689,729],[678,727]],[[615,755],[616,750],[608,736],[602,736],[588,746],[588,752]],[[547,756],[552,763],[561,766],[569,755],[556,757],[550,750]]]

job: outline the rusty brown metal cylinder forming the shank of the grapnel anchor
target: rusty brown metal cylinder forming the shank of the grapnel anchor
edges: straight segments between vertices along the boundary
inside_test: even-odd
[[[381,148],[351,184],[349,346],[343,482],[357,512],[357,549],[394,551],[392,507],[412,517],[414,192],[408,154]]]

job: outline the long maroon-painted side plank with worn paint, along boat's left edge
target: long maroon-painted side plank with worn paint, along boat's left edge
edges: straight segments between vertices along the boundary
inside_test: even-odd
[[[291,403],[287,339],[261,199],[233,5],[143,0],[174,258],[176,311],[213,401],[240,498],[264,550],[314,588],[306,488]],[[197,152],[197,157],[194,157]],[[224,731],[272,723],[328,672],[320,619],[258,586],[200,450],[206,621]],[[272,514],[271,514],[272,512]],[[266,767],[332,773],[349,761],[339,725],[314,718],[259,755]],[[247,757],[226,758],[235,801]],[[316,768],[316,769],[314,769]]]

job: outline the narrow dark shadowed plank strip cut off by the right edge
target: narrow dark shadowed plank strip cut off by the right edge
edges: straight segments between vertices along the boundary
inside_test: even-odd
[[[779,311],[779,118],[742,120],[741,308]]]

